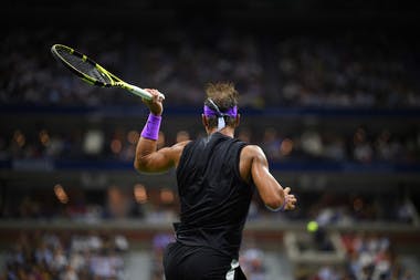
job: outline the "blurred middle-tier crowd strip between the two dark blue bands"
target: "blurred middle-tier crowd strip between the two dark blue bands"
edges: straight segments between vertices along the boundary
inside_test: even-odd
[[[170,127],[168,127],[170,128]],[[413,128],[413,129],[411,129]],[[196,135],[197,134],[197,135]],[[199,124],[176,133],[162,128],[159,147],[202,135]],[[420,162],[420,131],[407,127],[378,132],[358,125],[345,132],[306,127],[284,133],[277,127],[240,127],[238,137],[260,145],[269,160],[350,162],[416,164]],[[3,131],[0,134],[0,160],[13,159],[113,159],[132,162],[139,137],[136,127],[71,127],[48,129],[33,127]]]

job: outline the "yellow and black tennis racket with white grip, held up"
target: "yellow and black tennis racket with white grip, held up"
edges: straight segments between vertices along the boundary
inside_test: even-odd
[[[61,61],[67,69],[70,69],[74,74],[81,77],[83,81],[97,86],[116,86],[127,90],[128,92],[138,95],[146,100],[151,100],[151,94],[140,89],[136,85],[129,84],[99,64],[97,64],[92,59],[87,58],[85,54],[63,44],[54,44],[51,46],[52,54]],[[165,95],[160,95],[165,98]]]

